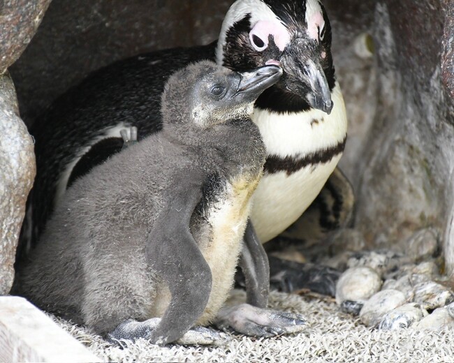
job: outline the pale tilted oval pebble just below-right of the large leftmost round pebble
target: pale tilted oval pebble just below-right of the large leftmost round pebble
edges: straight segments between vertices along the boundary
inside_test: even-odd
[[[405,295],[397,290],[381,290],[365,302],[360,311],[361,323],[374,327],[387,313],[405,303]]]

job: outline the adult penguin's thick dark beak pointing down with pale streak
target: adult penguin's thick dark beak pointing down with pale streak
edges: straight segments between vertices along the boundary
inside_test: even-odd
[[[307,40],[295,39],[284,50],[281,66],[288,75],[285,80],[288,91],[305,98],[312,108],[330,114],[331,91],[316,52],[316,47]]]

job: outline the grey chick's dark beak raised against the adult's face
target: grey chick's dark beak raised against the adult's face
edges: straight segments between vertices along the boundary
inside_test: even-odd
[[[254,102],[265,89],[276,83],[282,75],[278,66],[263,66],[251,72],[239,73],[241,79],[235,96],[242,96],[247,102]]]

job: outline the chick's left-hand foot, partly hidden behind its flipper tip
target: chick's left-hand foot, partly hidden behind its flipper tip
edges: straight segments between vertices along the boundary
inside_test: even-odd
[[[142,322],[133,319],[125,320],[108,334],[107,340],[110,343],[120,345],[122,345],[121,341],[123,340],[134,341],[139,338],[148,340],[160,322],[161,318],[152,318]],[[175,343],[181,344],[182,346],[196,344],[203,346],[224,346],[228,341],[230,341],[230,337],[223,332],[218,332],[207,327],[193,327],[184,333]]]

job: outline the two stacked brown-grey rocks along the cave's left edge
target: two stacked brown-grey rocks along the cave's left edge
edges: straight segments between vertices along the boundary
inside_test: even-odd
[[[33,142],[6,70],[29,44],[49,2],[0,2],[0,295],[13,284],[17,239],[36,172]]]

